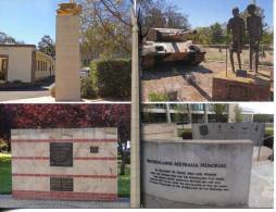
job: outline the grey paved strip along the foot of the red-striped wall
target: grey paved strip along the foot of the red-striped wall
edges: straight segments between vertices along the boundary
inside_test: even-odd
[[[127,209],[129,201],[129,198],[121,198],[116,202],[15,200],[9,195],[2,195],[0,209]]]

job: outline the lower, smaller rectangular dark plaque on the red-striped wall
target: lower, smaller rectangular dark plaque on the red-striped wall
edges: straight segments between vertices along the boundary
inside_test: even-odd
[[[74,191],[74,179],[51,177],[50,190],[51,191]]]

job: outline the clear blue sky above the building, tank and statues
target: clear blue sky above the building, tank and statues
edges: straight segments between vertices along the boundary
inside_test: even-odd
[[[231,9],[244,9],[251,0],[167,0],[189,15],[192,27],[227,22]],[[34,43],[43,35],[55,37],[55,10],[68,0],[0,0],[0,32]],[[273,25],[273,0],[256,0],[265,10],[266,22]]]

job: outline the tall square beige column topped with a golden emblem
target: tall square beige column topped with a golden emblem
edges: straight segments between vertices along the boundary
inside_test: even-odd
[[[57,15],[55,100],[80,101],[79,14],[76,3],[61,3]]]

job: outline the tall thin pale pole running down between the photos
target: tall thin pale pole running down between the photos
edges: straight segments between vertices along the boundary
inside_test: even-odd
[[[130,152],[130,208],[138,209],[140,201],[140,76],[138,18],[131,11],[133,57],[131,57],[131,152]]]

